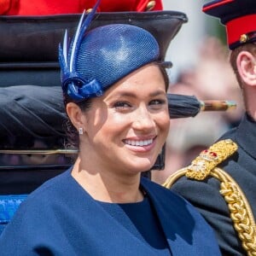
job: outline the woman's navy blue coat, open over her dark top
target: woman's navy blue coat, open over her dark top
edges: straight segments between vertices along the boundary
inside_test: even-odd
[[[201,214],[169,189],[142,178],[173,256],[220,255]],[[147,214],[147,212],[145,212]],[[1,256],[155,255],[77,183],[70,170],[32,192],[0,236]]]

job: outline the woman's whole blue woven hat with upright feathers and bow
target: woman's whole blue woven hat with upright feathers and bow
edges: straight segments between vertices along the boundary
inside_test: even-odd
[[[62,90],[75,102],[102,96],[119,79],[139,67],[163,61],[164,58],[157,38],[142,26],[127,24],[126,21],[89,29],[98,3],[89,15],[81,16],[71,44],[66,32],[63,45],[59,47]],[[168,43],[185,21],[185,15],[180,17],[172,37],[166,37]],[[154,31],[154,27],[150,29]]]

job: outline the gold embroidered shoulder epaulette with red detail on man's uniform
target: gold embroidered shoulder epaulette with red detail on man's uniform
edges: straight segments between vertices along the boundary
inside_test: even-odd
[[[199,154],[190,166],[187,166],[186,177],[196,180],[205,179],[213,168],[234,154],[237,145],[230,139],[214,143],[210,148],[205,149]]]

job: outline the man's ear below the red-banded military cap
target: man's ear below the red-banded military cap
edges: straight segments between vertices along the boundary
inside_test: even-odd
[[[256,85],[256,59],[248,51],[241,51],[236,58],[237,70],[244,84]]]

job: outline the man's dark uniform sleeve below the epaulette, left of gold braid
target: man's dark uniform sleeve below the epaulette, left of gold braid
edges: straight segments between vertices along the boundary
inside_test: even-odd
[[[246,255],[234,230],[226,202],[219,193],[218,180],[209,178],[206,181],[194,181],[181,177],[171,189],[201,212],[215,231],[223,255]]]

